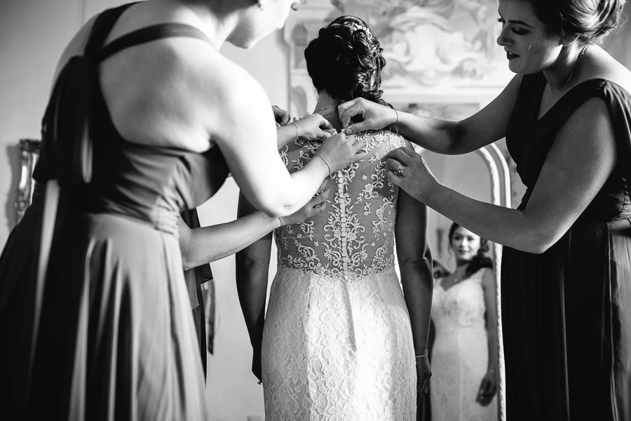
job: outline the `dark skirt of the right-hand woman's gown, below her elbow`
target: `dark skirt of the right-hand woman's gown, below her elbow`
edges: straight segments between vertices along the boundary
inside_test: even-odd
[[[631,220],[576,222],[541,255],[505,248],[510,420],[631,420]]]

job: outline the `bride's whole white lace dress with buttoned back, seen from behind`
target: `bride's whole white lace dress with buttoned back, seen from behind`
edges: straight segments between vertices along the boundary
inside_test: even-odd
[[[278,272],[262,343],[265,420],[414,420],[416,368],[394,262],[398,189],[381,158],[404,145],[363,133],[367,158],[328,182],[322,215],[275,232]],[[290,172],[317,142],[280,150]]]

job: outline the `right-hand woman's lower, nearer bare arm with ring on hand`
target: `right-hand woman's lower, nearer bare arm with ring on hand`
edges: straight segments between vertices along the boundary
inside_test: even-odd
[[[578,107],[557,134],[523,210],[477,201],[440,185],[412,149],[391,154],[405,176],[388,178],[416,199],[476,234],[504,246],[543,253],[556,243],[602,188],[616,163],[616,142],[602,100]]]

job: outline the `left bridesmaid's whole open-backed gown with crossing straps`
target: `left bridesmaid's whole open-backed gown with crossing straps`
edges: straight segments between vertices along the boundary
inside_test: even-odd
[[[97,67],[123,48],[205,36],[172,23],[103,46],[128,6],[97,18],[84,55],[55,82],[33,203],[0,257],[0,378],[11,385],[4,419],[209,417],[176,222],[214,194],[228,169],[217,147],[198,154],[123,139]],[[59,180],[60,196],[37,300],[48,180]]]

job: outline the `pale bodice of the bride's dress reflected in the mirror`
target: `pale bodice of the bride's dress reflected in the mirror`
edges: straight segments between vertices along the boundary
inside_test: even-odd
[[[483,274],[484,269],[480,269],[447,290],[442,288],[442,278],[437,279],[432,300],[432,319],[437,332],[484,328]]]

